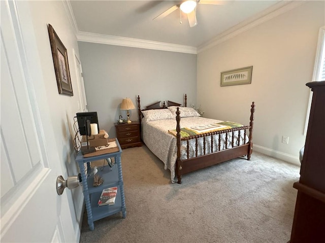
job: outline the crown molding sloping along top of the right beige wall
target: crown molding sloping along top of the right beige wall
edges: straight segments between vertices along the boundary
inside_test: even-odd
[[[197,52],[200,53],[204,50],[207,50],[211,47],[214,47],[224,41],[227,41],[233,37],[238,36],[259,24],[262,24],[270,19],[273,19],[287,11],[290,11],[294,8],[299,7],[300,5],[306,3],[307,1],[281,1],[275,4],[273,7],[266,9],[265,11],[248,18],[247,20],[235,25],[234,27],[218,34],[211,41],[204,43],[203,45],[198,47]]]

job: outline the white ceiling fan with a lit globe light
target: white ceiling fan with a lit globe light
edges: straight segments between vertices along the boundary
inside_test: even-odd
[[[159,14],[155,19],[162,19],[167,15],[171,14],[177,9],[180,9],[180,23],[182,23],[182,12],[187,14],[187,19],[190,27],[194,27],[198,24],[197,16],[196,16],[196,8],[197,4],[210,4],[210,5],[222,5],[225,4],[226,1],[212,1],[212,0],[186,0],[181,1],[180,4],[176,4],[166,10],[165,12]]]

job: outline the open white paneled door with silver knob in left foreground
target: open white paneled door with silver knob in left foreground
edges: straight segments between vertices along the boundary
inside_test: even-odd
[[[55,153],[49,111],[37,95],[45,93],[37,80],[42,75],[37,76],[31,70],[31,66],[40,65],[40,60],[35,59],[39,58],[35,37],[32,37],[34,33],[23,34],[24,27],[31,23],[24,18],[27,12],[19,14],[17,7],[25,3],[0,2],[0,241],[74,242],[67,193],[61,196],[56,193],[56,178],[62,170]],[[27,48],[34,48],[35,56],[27,56],[30,51]],[[30,60],[34,60],[33,63]],[[35,69],[41,70],[41,67]]]

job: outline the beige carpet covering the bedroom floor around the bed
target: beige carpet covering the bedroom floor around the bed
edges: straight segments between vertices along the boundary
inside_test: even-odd
[[[80,242],[287,242],[300,167],[260,153],[184,175],[146,146],[122,152],[126,218],[94,222],[84,214]]]

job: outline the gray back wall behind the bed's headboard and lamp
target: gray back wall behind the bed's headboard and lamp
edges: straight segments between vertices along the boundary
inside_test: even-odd
[[[123,98],[141,108],[159,100],[188,104],[197,100],[197,55],[141,48],[78,42],[84,74],[88,111],[97,111],[100,129],[114,137],[114,122],[121,114]],[[131,120],[138,111],[131,110]]]

